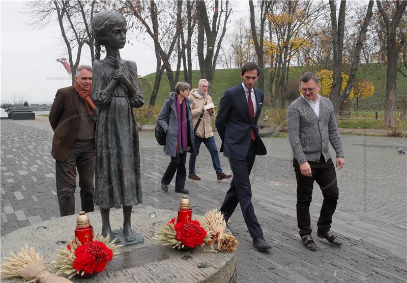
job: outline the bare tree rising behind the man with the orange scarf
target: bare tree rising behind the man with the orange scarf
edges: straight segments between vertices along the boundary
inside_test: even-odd
[[[68,61],[75,74],[82,55],[82,48],[88,45],[91,49],[92,61],[95,60],[93,35],[90,23],[97,10],[104,6],[97,1],[32,1],[27,2],[27,13],[32,16],[32,24],[46,26],[55,18],[61,30],[61,36],[68,53]],[[76,49],[76,55],[73,54]],[[72,75],[72,84],[74,78]]]

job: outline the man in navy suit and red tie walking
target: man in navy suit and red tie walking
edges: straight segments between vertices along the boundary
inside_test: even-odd
[[[263,238],[251,203],[249,175],[256,155],[265,155],[267,150],[258,136],[257,120],[263,106],[264,93],[254,87],[260,68],[253,62],[246,63],[241,70],[242,84],[229,88],[223,94],[216,116],[216,129],[222,140],[220,151],[229,159],[233,179],[220,211],[227,223],[238,203],[253,245],[257,250],[271,246]]]

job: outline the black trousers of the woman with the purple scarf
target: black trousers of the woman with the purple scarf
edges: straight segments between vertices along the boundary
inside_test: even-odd
[[[162,182],[169,184],[177,171],[175,177],[175,189],[182,190],[185,186],[185,179],[187,178],[187,169],[185,168],[185,162],[187,160],[187,153],[179,154],[175,157],[171,156],[171,162],[168,164],[167,170],[165,170],[162,176]]]

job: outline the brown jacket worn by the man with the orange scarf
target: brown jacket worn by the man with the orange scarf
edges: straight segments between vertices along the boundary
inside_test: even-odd
[[[73,86],[56,91],[48,119],[54,131],[51,154],[57,161],[68,158],[75,142],[80,123],[79,99]]]

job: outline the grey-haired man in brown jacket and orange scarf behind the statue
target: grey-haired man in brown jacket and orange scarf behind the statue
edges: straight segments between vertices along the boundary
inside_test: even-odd
[[[92,67],[79,66],[73,86],[56,92],[49,112],[54,137],[56,193],[61,216],[75,213],[76,169],[79,174],[82,211],[94,211],[95,121],[97,110],[91,100]]]

